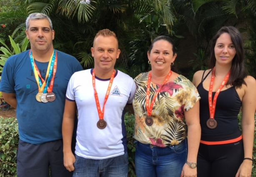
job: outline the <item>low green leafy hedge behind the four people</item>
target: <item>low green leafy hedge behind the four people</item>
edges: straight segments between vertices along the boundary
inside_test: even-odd
[[[241,122],[241,116],[238,116]],[[125,114],[125,125],[128,140],[129,154],[129,177],[136,177],[134,168],[135,145],[133,139],[134,115]],[[18,149],[19,135],[18,122],[15,118],[0,117],[0,177],[17,177],[16,155]],[[252,177],[256,177],[256,128],[254,132],[253,146],[253,170]]]

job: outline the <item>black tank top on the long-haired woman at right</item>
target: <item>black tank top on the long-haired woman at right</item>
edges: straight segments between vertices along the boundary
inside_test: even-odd
[[[209,73],[208,73],[209,74]],[[208,76],[206,75],[206,77]],[[208,104],[208,90],[203,88],[204,77],[197,90],[201,97],[200,99],[200,124],[201,124],[201,140],[203,141],[224,141],[237,138],[241,135],[238,126],[237,115],[240,111],[242,102],[236,92],[235,87],[230,87],[219,93],[216,101],[215,117],[217,127],[210,129],[206,125],[206,121],[210,118],[209,104]],[[214,97],[216,92],[213,92]]]

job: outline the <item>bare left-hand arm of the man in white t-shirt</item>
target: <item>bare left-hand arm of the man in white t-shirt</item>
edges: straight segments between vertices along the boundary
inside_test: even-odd
[[[72,101],[65,101],[65,109],[62,123],[62,136],[63,136],[63,153],[64,153],[64,166],[68,171],[75,170],[74,162],[75,156],[71,150],[71,142],[74,130],[76,114],[76,103]]]

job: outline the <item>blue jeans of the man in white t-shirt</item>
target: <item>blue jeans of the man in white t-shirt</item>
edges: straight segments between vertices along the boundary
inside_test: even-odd
[[[103,160],[85,159],[75,155],[73,177],[127,177],[128,153]]]

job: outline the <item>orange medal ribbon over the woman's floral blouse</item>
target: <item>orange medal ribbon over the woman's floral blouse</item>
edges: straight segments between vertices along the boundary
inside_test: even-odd
[[[165,80],[163,81],[163,85],[168,81],[168,79],[171,77],[171,75],[172,75],[172,71],[170,71],[169,74],[166,76]],[[163,86],[163,85],[161,85],[161,87],[158,89],[158,91],[156,92],[156,95],[153,97],[151,105],[149,106],[150,84],[151,84],[151,72],[148,75],[148,85],[147,85],[147,93],[146,93],[146,108],[147,108],[147,111],[148,111],[148,116],[151,116],[154,102],[156,100],[156,97],[157,97],[158,93],[160,92],[160,90]]]

